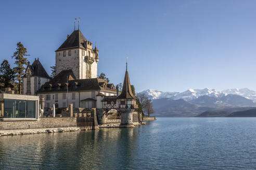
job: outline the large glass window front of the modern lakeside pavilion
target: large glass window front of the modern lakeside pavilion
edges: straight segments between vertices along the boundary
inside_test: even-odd
[[[4,99],[4,118],[36,118],[36,101]]]

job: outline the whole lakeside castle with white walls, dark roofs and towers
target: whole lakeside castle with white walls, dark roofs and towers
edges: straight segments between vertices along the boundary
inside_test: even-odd
[[[119,112],[124,127],[133,126],[136,97],[126,72],[121,94],[112,83],[97,78],[98,49],[80,30],[74,30],[55,51],[56,75],[50,78],[39,59],[27,66],[22,78],[23,94],[44,98],[43,108],[97,109],[98,122],[107,121],[107,112]],[[116,111],[113,111],[116,110]],[[125,116],[122,116],[125,115]],[[136,116],[135,116],[136,117]]]

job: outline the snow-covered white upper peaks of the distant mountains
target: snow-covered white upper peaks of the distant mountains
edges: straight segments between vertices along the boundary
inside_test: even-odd
[[[148,89],[142,91],[140,93],[146,94],[152,100],[159,98],[171,98],[173,100],[184,99],[186,101],[194,100],[200,96],[214,96],[214,97],[222,97],[228,94],[240,95],[242,97],[248,98],[256,102],[256,92],[253,90],[249,90],[247,88],[244,89],[227,89],[223,91],[216,91],[214,89],[188,89],[184,92],[162,92],[154,89]]]

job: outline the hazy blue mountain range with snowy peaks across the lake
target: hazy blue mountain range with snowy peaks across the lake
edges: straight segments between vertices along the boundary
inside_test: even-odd
[[[192,117],[205,111],[225,113],[243,111],[256,107],[256,92],[244,89],[188,89],[184,92],[161,92],[145,90],[143,92],[153,101],[155,115],[159,117]],[[210,114],[206,114],[210,115]]]

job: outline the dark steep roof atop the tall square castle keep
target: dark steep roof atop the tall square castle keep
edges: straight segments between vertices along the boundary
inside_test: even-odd
[[[87,40],[82,32],[80,30],[75,30],[56,51],[69,48],[85,48],[85,41]]]

